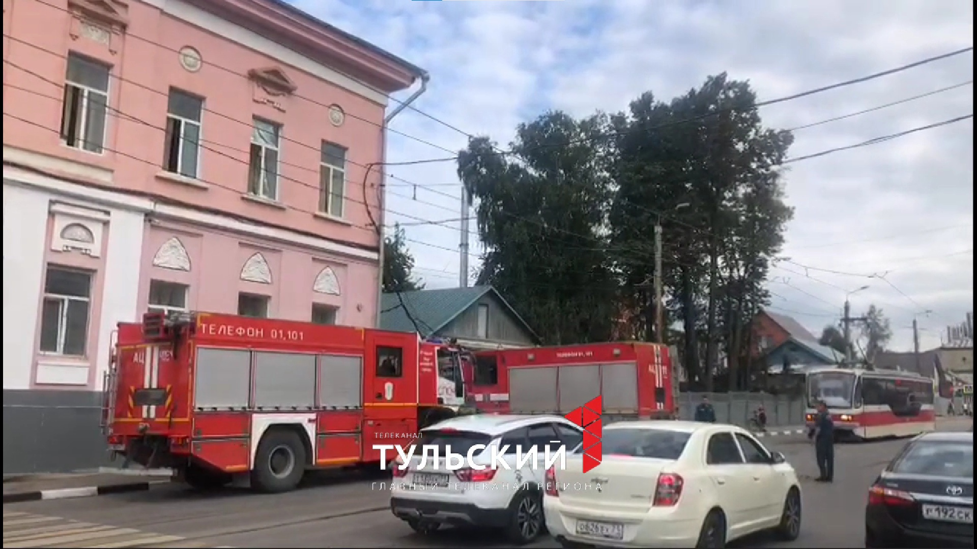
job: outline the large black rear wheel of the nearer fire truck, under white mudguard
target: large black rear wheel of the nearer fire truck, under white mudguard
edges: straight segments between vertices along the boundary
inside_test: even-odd
[[[305,474],[306,450],[299,436],[284,429],[269,429],[258,444],[251,471],[251,486],[265,492],[288,491]]]

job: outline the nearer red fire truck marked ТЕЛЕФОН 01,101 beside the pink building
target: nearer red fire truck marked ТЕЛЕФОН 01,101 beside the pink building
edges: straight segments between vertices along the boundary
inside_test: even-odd
[[[118,326],[103,427],[127,464],[284,491],[309,469],[378,464],[374,444],[454,415],[463,357],[412,333],[150,313]]]

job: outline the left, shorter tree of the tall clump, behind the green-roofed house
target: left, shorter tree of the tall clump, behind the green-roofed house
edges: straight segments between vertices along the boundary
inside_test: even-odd
[[[486,246],[479,283],[512,301],[546,343],[607,341],[620,314],[604,246],[604,125],[547,112],[519,125],[511,154],[476,138],[458,157]]]

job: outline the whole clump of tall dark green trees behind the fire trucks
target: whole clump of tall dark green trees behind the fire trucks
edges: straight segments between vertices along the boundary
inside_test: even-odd
[[[783,161],[793,138],[763,126],[746,82],[726,74],[668,102],[575,120],[548,112],[517,129],[512,154],[487,139],[461,152],[491,283],[547,343],[652,335],[655,227],[665,314],[680,321],[691,380],[749,379],[750,320],[793,211]],[[623,322],[625,325],[620,325]]]

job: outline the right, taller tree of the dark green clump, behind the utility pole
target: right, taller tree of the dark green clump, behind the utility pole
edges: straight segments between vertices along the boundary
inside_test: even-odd
[[[609,220],[614,247],[626,250],[616,255],[624,291],[654,274],[649,229],[660,220],[669,309],[685,326],[689,378],[705,390],[720,350],[731,387],[748,379],[737,369],[749,364],[749,320],[767,303],[763,281],[793,215],[780,169],[793,138],[764,128],[755,106],[748,83],[719,74],[668,104],[646,93],[612,119]]]

